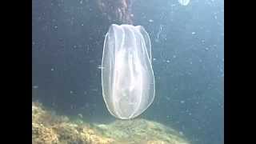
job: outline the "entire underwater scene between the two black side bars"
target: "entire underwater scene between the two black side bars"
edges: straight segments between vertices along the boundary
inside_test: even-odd
[[[223,0],[32,0],[33,144],[223,144]]]

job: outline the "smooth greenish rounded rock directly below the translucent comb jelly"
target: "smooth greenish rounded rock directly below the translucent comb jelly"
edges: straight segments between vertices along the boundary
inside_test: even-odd
[[[162,144],[188,144],[177,131],[163,126],[158,122],[145,119],[133,119],[130,121],[117,120],[108,125],[97,125],[98,130],[117,142],[130,143],[162,143]]]

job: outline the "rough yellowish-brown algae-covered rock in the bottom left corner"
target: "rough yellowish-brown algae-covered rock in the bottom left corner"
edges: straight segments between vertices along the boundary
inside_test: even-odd
[[[33,144],[109,144],[113,141],[95,132],[90,124],[71,122],[32,102]]]

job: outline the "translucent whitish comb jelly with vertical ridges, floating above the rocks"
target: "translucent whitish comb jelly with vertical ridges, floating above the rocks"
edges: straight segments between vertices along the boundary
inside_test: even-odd
[[[142,26],[111,25],[102,54],[102,94],[110,114],[130,119],[154,101],[150,37]]]

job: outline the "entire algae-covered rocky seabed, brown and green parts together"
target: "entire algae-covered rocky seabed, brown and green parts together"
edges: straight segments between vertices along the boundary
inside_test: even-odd
[[[109,124],[71,121],[32,102],[33,144],[189,144],[177,131],[146,119]]]

